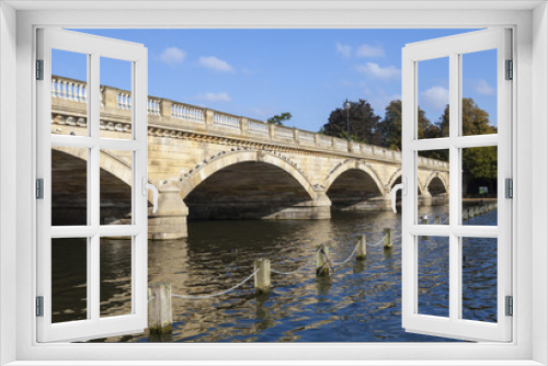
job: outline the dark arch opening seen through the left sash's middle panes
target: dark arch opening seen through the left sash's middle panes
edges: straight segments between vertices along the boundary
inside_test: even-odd
[[[52,149],[53,226],[88,225],[87,155],[72,150]],[[100,169],[100,224],[127,224],[130,215],[132,186]]]

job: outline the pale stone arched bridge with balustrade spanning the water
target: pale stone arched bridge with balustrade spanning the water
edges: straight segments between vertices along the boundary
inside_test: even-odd
[[[53,78],[53,134],[87,134],[87,95],[84,82]],[[101,137],[129,139],[130,110],[130,92],[101,85]],[[85,160],[84,150],[53,147],[54,220],[85,217]],[[130,164],[126,151],[101,151],[102,224],[130,218]],[[187,219],[328,219],[332,209],[389,210],[401,153],[149,96],[148,172],[160,190],[149,236],[174,239],[186,236]],[[62,194],[67,182],[70,198]],[[448,164],[419,158],[419,203],[445,204],[447,192]]]

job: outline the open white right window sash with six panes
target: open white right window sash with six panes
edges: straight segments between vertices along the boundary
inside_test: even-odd
[[[512,317],[505,317],[504,298],[512,291],[512,202],[504,198],[504,180],[512,178],[512,83],[504,80],[504,61],[512,59],[511,31],[486,30],[407,45],[402,50],[402,172],[408,194],[402,205],[402,325],[415,333],[464,340],[512,340]],[[498,49],[498,134],[460,136],[461,56]],[[449,58],[449,137],[418,139],[418,62]],[[472,227],[460,224],[461,148],[498,146],[498,226]],[[449,150],[449,225],[418,225],[418,151]],[[419,236],[449,238],[449,317],[419,314]],[[460,319],[461,238],[498,238],[498,323]]]

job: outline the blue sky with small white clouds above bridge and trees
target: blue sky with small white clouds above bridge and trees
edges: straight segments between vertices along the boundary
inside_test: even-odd
[[[345,99],[365,99],[384,116],[401,98],[401,48],[470,30],[78,30],[141,43],[149,94],[318,130]],[[495,52],[464,56],[463,90],[496,121]],[[430,64],[430,65],[426,65]],[[129,66],[102,60],[101,83],[129,89]],[[81,65],[81,66],[77,66]],[[84,78],[85,64],[54,58],[53,72]],[[448,62],[419,66],[419,103],[435,122],[448,101]]]

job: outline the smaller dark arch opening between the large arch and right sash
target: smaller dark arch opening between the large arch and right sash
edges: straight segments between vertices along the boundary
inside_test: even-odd
[[[334,210],[376,210],[377,205],[367,201],[381,196],[383,191],[367,172],[349,169],[333,181],[327,194]]]

